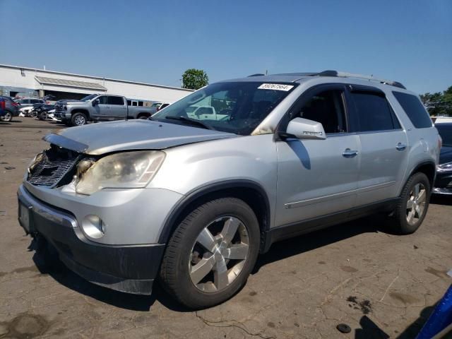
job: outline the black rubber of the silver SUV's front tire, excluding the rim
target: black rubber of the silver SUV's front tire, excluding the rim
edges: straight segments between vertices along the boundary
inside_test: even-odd
[[[236,278],[232,278],[232,282],[228,282],[221,290],[204,292],[191,281],[189,270],[193,260],[190,260],[192,251],[198,235],[205,227],[221,217],[227,219],[226,216],[237,218],[242,222],[240,227],[246,228],[248,252],[241,270]],[[225,302],[244,286],[254,268],[260,244],[259,237],[256,215],[244,201],[237,198],[218,198],[204,203],[186,215],[169,239],[160,266],[160,281],[169,295],[190,309],[204,309]],[[228,262],[234,264],[232,259]]]

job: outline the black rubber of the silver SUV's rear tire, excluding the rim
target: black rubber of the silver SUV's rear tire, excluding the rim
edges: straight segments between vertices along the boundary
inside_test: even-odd
[[[410,223],[408,222],[408,201],[412,196],[415,186],[418,184],[424,187],[424,208],[422,208],[422,213],[420,213],[420,215],[418,213],[415,213],[415,215],[417,215],[417,218],[413,218],[413,221]],[[393,212],[393,222],[391,222],[390,225],[391,230],[398,234],[412,234],[416,232],[416,230],[422,224],[422,221],[424,221],[425,215],[427,215],[430,193],[431,186],[427,176],[424,173],[420,172],[412,174],[410,179],[408,179],[405,186],[403,187],[402,194],[400,194],[400,201],[398,202],[396,210],[394,210]]]

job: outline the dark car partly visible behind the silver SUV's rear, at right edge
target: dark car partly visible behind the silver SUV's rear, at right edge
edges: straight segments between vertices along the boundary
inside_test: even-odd
[[[436,166],[434,194],[452,195],[452,122],[435,124],[442,139],[439,164]]]

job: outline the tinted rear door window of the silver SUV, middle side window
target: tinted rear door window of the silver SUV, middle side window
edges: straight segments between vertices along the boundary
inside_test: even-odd
[[[352,92],[359,120],[359,131],[386,131],[394,126],[386,97],[379,93]],[[397,122],[398,125],[398,122]]]

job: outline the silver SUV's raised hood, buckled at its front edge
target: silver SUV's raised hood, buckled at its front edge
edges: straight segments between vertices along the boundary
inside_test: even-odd
[[[61,129],[47,134],[44,140],[79,153],[101,155],[119,150],[162,150],[236,136],[234,133],[138,119]]]

